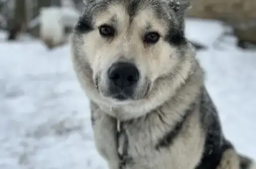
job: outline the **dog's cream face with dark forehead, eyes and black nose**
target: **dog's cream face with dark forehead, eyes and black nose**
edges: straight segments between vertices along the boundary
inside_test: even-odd
[[[164,90],[161,79],[170,78],[177,65],[188,60],[183,20],[187,1],[93,0],[85,4],[73,34],[75,62],[87,65],[80,68],[91,70],[87,76],[92,84],[86,85],[93,85],[111,104],[154,97]]]

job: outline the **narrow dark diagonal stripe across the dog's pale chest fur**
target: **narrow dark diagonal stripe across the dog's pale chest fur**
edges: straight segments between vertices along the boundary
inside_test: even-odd
[[[189,106],[189,109],[186,110],[186,113],[184,114],[184,116],[181,118],[180,122],[177,122],[174,129],[172,129],[171,131],[169,131],[155,146],[155,148],[157,150],[159,150],[160,148],[164,148],[164,147],[169,147],[173,144],[173,141],[175,140],[175,138],[177,138],[178,134],[180,134],[180,131],[184,125],[184,122],[187,120],[188,116],[193,112],[193,110],[195,109],[196,103],[193,102],[191,106]],[[160,116],[158,116],[160,117]],[[163,120],[162,118],[160,118],[160,120]]]

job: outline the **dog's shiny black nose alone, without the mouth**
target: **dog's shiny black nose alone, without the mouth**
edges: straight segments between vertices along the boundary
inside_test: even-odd
[[[131,63],[115,63],[108,70],[108,78],[121,89],[131,87],[139,80],[139,71]]]

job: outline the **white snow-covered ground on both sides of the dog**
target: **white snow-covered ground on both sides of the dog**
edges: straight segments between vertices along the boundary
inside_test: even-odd
[[[197,57],[236,149],[256,159],[256,51],[242,51],[215,21],[188,20],[186,33],[206,45]],[[0,169],[107,169],[97,154],[88,99],[68,46],[6,43],[0,35]]]

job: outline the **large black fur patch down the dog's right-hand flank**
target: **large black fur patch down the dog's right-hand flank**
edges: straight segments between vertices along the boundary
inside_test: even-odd
[[[224,151],[232,149],[232,145],[224,139],[217,110],[204,87],[202,89],[200,115],[202,127],[206,132],[206,139],[204,153],[196,169],[216,169]]]

